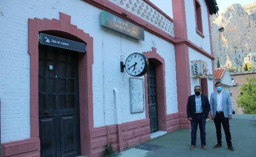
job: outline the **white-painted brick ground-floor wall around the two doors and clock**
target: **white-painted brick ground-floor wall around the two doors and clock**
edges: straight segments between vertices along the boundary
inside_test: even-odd
[[[27,53],[28,18],[56,18],[59,12],[71,15],[71,24],[94,38],[93,103],[94,127],[104,126],[105,95],[107,124],[117,124],[113,87],[120,91],[121,121],[145,118],[143,113],[130,114],[129,77],[120,72],[120,57],[151,51],[165,59],[167,114],[176,113],[177,89],[174,45],[145,32],[145,41],[121,35],[100,26],[101,10],[81,0],[8,0],[0,1],[0,98],[1,142],[30,138],[30,56]],[[104,53],[103,53],[104,52]],[[103,57],[105,94],[103,94]]]

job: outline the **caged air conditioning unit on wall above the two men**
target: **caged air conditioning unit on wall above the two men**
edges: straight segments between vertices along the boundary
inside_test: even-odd
[[[207,78],[208,77],[208,69],[207,63],[203,60],[193,60],[191,61],[192,65],[192,77],[194,78]]]

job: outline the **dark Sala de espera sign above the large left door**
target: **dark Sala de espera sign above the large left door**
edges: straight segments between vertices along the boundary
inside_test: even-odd
[[[55,37],[53,35],[40,33],[40,44],[60,47],[63,49],[70,49],[73,51],[86,52],[86,44],[75,42],[64,38]]]

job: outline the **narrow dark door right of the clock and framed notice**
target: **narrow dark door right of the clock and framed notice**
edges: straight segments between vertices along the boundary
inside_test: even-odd
[[[149,95],[150,133],[154,133],[158,131],[158,109],[157,109],[155,65],[152,63],[149,63],[149,70],[148,70],[148,95]]]

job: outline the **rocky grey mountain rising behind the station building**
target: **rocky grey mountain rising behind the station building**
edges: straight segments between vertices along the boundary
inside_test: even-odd
[[[234,52],[256,52],[256,1],[244,6],[232,4],[211,15],[210,23],[212,32],[225,28],[222,33],[212,34],[215,67],[217,57],[220,66],[232,66]]]

